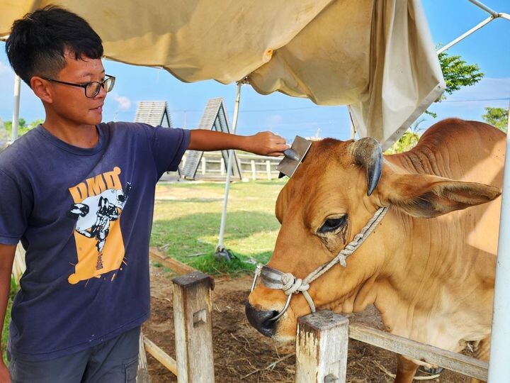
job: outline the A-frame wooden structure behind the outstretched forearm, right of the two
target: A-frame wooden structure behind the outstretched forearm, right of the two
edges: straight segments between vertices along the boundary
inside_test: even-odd
[[[208,101],[202,118],[200,118],[200,123],[198,123],[198,129],[230,133],[227,111],[222,98],[210,99]],[[234,150],[232,150],[232,153],[234,155],[234,161],[232,162],[232,175],[242,179],[241,164],[239,163]],[[182,169],[182,174],[185,178],[195,178],[202,156],[203,152],[201,151],[188,150],[186,153],[186,162]],[[225,162],[225,169],[228,169],[228,150],[222,150],[222,157],[223,162]]]

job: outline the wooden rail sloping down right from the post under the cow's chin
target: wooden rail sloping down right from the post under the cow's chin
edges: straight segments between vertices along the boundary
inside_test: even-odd
[[[349,326],[349,338],[361,340],[364,343],[375,345],[394,353],[406,355],[416,360],[444,367],[450,371],[460,372],[460,374],[487,381],[489,364],[474,357],[452,353],[359,323],[351,323]]]

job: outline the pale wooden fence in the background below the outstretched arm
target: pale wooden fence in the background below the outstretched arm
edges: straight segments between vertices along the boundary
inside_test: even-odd
[[[276,170],[276,165],[281,160],[280,157],[267,157],[237,152],[237,158],[241,164],[243,179],[276,179],[278,174],[280,174]],[[186,155],[183,157],[184,162],[186,162]],[[200,160],[200,165],[198,165],[196,177],[217,178],[226,176],[227,170],[221,152],[205,152]]]

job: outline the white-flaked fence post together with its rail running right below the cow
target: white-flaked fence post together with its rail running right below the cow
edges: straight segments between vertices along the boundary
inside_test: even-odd
[[[331,338],[334,338],[334,341],[331,342]],[[299,319],[296,340],[296,382],[297,377],[307,377],[300,378],[299,382],[345,383],[346,372],[343,366],[347,363],[348,338],[487,381],[489,369],[487,362],[359,323],[349,324],[344,316],[326,310]]]

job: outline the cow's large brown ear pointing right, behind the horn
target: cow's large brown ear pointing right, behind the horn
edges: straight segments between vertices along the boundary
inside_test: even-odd
[[[392,174],[390,178],[384,182],[381,200],[420,218],[485,204],[501,194],[497,187],[425,174]]]

